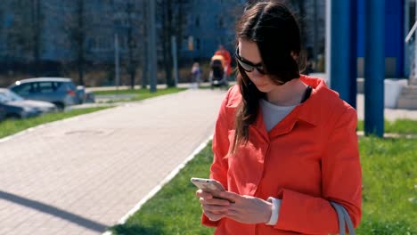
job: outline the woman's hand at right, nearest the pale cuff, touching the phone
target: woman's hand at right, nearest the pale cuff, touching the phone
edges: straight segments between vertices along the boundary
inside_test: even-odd
[[[272,214],[272,203],[250,196],[241,196],[234,192],[222,191],[218,195],[223,199],[234,201],[222,211],[223,216],[240,223],[267,223]],[[223,200],[224,201],[224,200]]]

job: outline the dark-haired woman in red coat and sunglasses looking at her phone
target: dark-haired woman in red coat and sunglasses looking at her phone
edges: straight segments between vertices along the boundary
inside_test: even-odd
[[[238,85],[220,108],[210,168],[227,191],[197,190],[202,223],[215,234],[337,233],[334,201],[357,226],[356,110],[299,74],[299,27],[283,4],[253,4],[236,35]]]

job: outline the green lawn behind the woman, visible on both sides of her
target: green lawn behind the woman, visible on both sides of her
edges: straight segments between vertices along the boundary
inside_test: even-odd
[[[395,126],[413,125],[402,121]],[[407,129],[408,130],[408,129]],[[413,134],[416,134],[414,132]],[[363,169],[363,217],[356,234],[417,234],[417,144],[415,139],[359,139]],[[113,234],[213,234],[200,225],[200,204],[190,178],[207,177],[211,144],[201,150],[157,195]]]

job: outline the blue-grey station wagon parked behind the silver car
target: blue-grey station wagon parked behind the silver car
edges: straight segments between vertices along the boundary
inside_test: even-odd
[[[53,102],[58,109],[83,103],[84,96],[77,91],[70,78],[37,77],[16,81],[9,86],[14,93],[29,100]]]

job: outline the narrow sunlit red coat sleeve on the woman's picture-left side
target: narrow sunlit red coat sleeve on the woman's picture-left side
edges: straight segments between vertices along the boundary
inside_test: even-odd
[[[231,88],[232,89],[232,88]],[[228,117],[226,106],[229,100],[229,93],[227,93],[225,100],[220,106],[220,110],[217,117],[215,133],[213,135],[212,150],[214,153],[213,163],[210,167],[210,178],[221,182],[227,190],[227,170],[228,160],[226,157],[229,151],[229,138],[228,138]],[[204,214],[201,216],[201,223],[206,226],[215,227],[217,222],[210,221]]]

